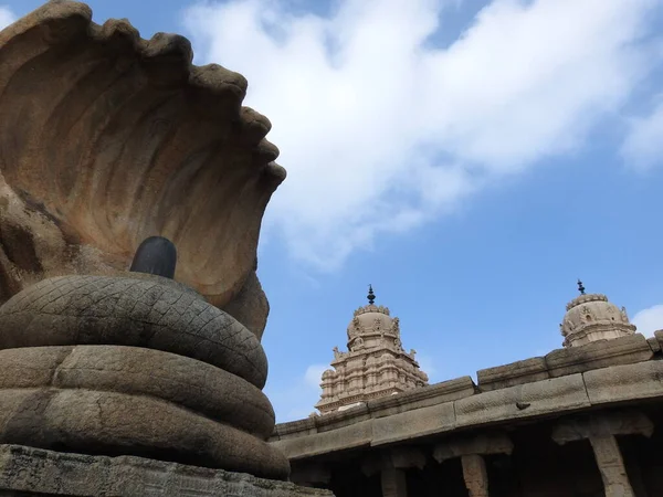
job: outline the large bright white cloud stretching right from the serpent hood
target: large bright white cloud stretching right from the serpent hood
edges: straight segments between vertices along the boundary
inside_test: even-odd
[[[453,3],[340,0],[329,18],[267,0],[187,10],[203,59],[244,74],[246,104],[274,124],[290,176],[267,221],[295,256],[338,267],[379,234],[573,151],[659,62],[642,42],[655,0],[494,0],[435,47]]]

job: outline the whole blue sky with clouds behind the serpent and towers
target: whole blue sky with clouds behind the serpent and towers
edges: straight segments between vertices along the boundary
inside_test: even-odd
[[[313,411],[369,283],[433,382],[560,347],[578,277],[663,328],[663,1],[88,3],[187,35],[273,123],[278,421]]]

